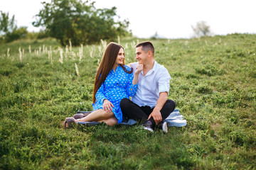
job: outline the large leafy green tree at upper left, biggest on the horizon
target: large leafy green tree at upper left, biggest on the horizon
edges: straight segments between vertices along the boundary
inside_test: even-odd
[[[116,8],[96,9],[95,2],[82,0],[51,0],[43,2],[33,26],[43,26],[50,36],[62,45],[92,44],[102,40],[115,40],[127,34],[128,21],[114,21]]]

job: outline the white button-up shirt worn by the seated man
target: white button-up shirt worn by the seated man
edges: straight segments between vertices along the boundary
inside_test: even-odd
[[[131,64],[133,74],[139,63]],[[159,99],[161,92],[169,94],[171,76],[168,70],[154,61],[154,67],[143,75],[143,71],[139,73],[138,89],[136,94],[132,97],[132,101],[138,106],[150,106],[154,108]]]

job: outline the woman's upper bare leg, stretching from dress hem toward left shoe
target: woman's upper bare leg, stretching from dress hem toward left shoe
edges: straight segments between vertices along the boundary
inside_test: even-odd
[[[76,119],[75,123],[78,123],[78,122],[100,122],[101,120],[108,120],[113,117],[114,117],[114,113],[106,112],[103,109],[99,109],[97,111],[90,113],[85,118]]]

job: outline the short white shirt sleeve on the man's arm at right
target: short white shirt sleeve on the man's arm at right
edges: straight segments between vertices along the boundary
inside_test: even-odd
[[[161,92],[167,92],[169,94],[169,89],[170,89],[170,80],[171,76],[166,68],[163,68],[161,72],[159,72],[159,94]]]

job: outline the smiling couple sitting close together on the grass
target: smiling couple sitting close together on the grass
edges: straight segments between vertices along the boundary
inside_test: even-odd
[[[110,42],[97,69],[92,113],[66,118],[65,127],[78,122],[104,122],[112,126],[132,118],[150,132],[156,126],[168,132],[164,120],[175,108],[175,102],[167,100],[170,74],[154,61],[151,42],[136,45],[136,59],[138,62],[131,67],[124,65],[124,47]]]

